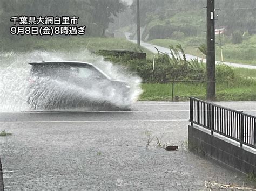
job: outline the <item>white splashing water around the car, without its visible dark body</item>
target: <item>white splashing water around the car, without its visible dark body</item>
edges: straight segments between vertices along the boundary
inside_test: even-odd
[[[141,79],[128,72],[123,67],[112,65],[111,62],[104,61],[103,57],[91,54],[88,51],[79,52],[45,52],[33,51],[30,53],[0,53],[0,112],[19,112],[30,111],[31,105],[28,105],[29,98],[29,79],[31,65],[28,62],[37,61],[83,61],[93,63],[104,73],[113,79],[125,81],[131,87],[131,95],[124,99],[121,95],[114,95],[111,92],[109,95],[99,93],[99,88],[92,86],[90,89],[84,89],[79,86],[74,86],[67,80],[44,79],[39,81],[39,86],[45,86],[47,81],[47,91],[40,94],[33,101],[32,105],[36,108],[52,108],[53,105],[62,105],[69,103],[72,109],[84,110],[88,100],[97,110],[98,103],[110,103],[117,107],[124,108],[136,102],[139,95],[142,93],[140,89]],[[126,71],[126,72],[124,72]],[[97,104],[94,104],[97,103]],[[82,106],[82,108],[81,108]],[[79,107],[79,108],[78,108]],[[63,108],[62,108],[63,109]],[[70,109],[70,108],[65,108]],[[87,108],[88,109],[88,108]]]

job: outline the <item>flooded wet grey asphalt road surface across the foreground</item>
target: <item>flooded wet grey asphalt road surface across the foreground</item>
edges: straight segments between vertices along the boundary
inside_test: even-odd
[[[256,102],[221,102],[256,115]],[[132,111],[0,113],[6,190],[198,190],[246,176],[187,151],[188,102]],[[178,145],[165,151],[161,144]],[[150,142],[150,143],[149,143]],[[149,144],[148,144],[149,143]],[[149,145],[149,146],[146,146]]]

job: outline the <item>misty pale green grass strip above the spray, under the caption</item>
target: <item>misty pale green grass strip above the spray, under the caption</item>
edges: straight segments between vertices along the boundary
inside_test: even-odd
[[[94,52],[99,49],[124,49],[129,51],[143,51],[147,53],[147,58],[153,58],[153,53],[146,48],[139,49],[136,44],[124,38],[92,38],[78,36],[55,38],[23,37],[17,41],[0,39],[0,43],[4,45],[0,47],[0,51],[29,52],[42,50],[69,52],[76,49],[88,49]]]

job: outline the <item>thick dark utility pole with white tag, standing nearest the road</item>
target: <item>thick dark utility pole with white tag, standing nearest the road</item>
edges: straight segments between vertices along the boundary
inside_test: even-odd
[[[215,0],[207,1],[207,100],[216,98],[215,82]]]

